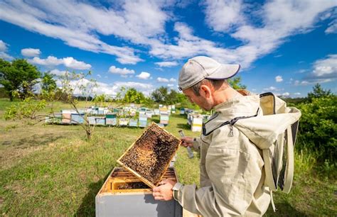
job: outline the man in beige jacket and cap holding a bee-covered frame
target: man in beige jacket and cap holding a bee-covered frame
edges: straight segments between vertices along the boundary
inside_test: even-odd
[[[182,145],[200,149],[200,188],[169,179],[153,189],[156,200],[176,201],[202,216],[262,216],[270,203],[264,187],[260,150],[226,121],[255,116],[259,96],[243,96],[227,79],[240,65],[220,64],[210,57],[193,57],[179,73],[178,85],[188,99],[215,113],[203,125],[200,138],[182,138]]]

